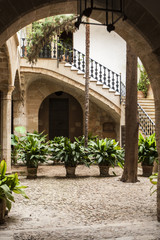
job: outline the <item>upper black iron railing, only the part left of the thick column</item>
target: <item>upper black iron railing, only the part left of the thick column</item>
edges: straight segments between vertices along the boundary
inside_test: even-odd
[[[25,57],[27,55],[26,51],[26,39],[22,38],[21,45],[21,56]],[[65,61],[70,63],[73,67],[77,68],[79,71],[85,73],[85,54],[80,51],[67,46],[59,42],[44,46],[39,54],[40,58],[55,58],[58,61]],[[97,80],[98,83],[107,86],[109,89],[114,90],[120,94],[121,89],[121,75],[115,73],[109,68],[103,66],[97,61],[90,58],[90,77]]]

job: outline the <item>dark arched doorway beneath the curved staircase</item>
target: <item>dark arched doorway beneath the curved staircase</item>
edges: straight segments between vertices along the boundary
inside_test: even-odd
[[[44,131],[49,139],[55,136],[74,137],[83,134],[83,111],[79,102],[62,91],[45,98],[39,109],[39,132]]]

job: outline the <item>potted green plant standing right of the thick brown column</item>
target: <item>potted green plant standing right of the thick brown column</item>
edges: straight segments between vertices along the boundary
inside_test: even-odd
[[[152,175],[155,161],[158,161],[155,133],[146,138],[140,133],[138,141],[138,162],[142,165],[144,177]]]

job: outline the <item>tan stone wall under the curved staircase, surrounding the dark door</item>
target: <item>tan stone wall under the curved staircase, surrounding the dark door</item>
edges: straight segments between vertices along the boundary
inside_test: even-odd
[[[26,74],[27,78],[33,76]],[[33,80],[33,79],[32,79]],[[26,84],[27,85],[27,84]],[[84,133],[84,93],[74,91],[67,85],[60,85],[56,80],[48,81],[47,79],[37,79],[27,87],[26,94],[26,123],[27,131],[45,130],[48,129],[48,98],[55,97],[55,92],[65,92],[64,97],[68,96],[70,99],[70,138],[79,136]],[[40,109],[40,112],[39,112]],[[82,113],[81,113],[82,111]],[[83,115],[83,120],[82,120]],[[21,118],[23,114],[19,114]],[[25,121],[24,121],[25,122]],[[99,107],[93,100],[90,100],[90,119],[89,132],[93,135],[98,135],[100,138],[110,137],[119,140],[119,122],[111,117],[109,111]],[[82,130],[83,129],[83,130]]]

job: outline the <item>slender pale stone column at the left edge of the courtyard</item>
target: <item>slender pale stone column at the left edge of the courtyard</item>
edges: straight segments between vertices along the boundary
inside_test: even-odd
[[[11,109],[12,91],[14,87],[9,86],[2,94],[2,156],[7,163],[7,173],[11,172]]]

